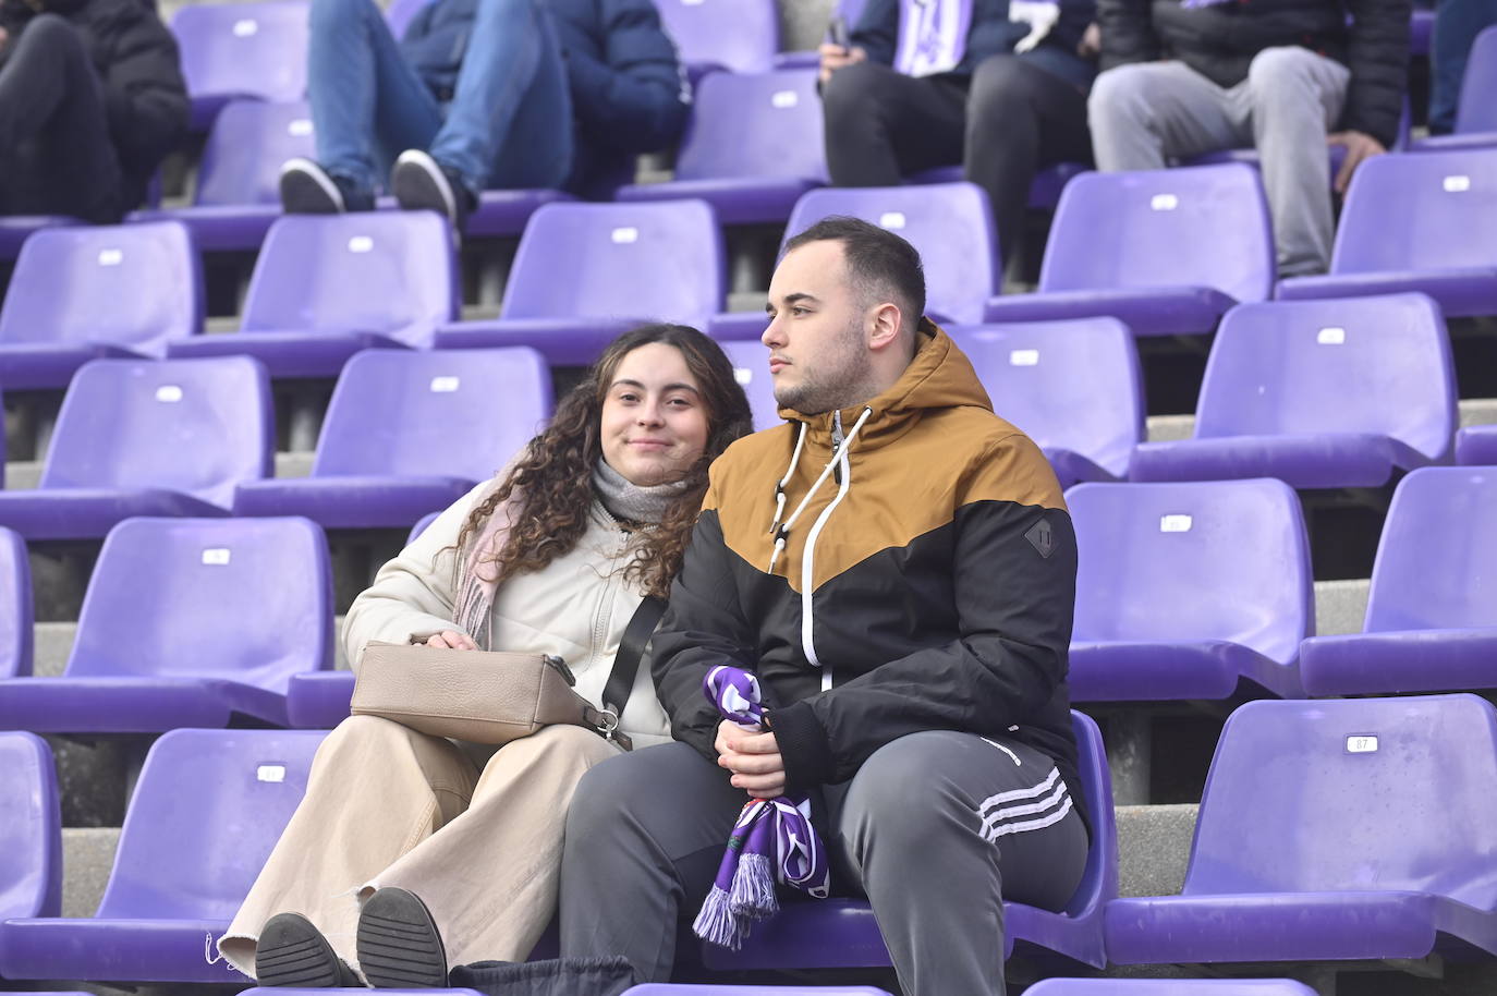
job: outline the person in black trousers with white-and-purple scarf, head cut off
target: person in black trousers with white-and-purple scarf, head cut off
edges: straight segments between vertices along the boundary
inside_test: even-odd
[[[1034,174],[1091,162],[1094,13],[1093,0],[870,0],[849,45],[820,49],[831,181],[891,187],[961,163],[1013,256]]]

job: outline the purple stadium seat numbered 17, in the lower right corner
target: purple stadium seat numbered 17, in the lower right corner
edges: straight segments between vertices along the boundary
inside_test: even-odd
[[[1475,695],[1248,702],[1222,731],[1181,894],[1112,900],[1108,957],[1497,954],[1494,783],[1497,714]]]

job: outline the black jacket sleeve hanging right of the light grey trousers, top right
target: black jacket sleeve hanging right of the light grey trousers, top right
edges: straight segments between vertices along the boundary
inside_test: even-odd
[[[1409,0],[1352,0],[1341,127],[1371,135],[1385,148],[1398,136],[1409,88]]]

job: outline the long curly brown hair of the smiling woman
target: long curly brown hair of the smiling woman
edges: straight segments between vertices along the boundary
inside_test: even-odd
[[[499,583],[515,574],[540,571],[570,551],[587,532],[594,499],[593,467],[603,457],[599,431],[603,398],[623,358],[650,343],[665,343],[681,352],[701,388],[708,425],[707,446],[686,475],[687,487],[656,529],[635,533],[635,557],[624,571],[624,577],[648,595],[668,596],[707,494],[708,464],[735,439],[753,431],[748,398],[734,376],[734,365],[717,343],[687,325],[641,325],[615,338],[582,382],[561,398],[551,422],[530,440],[503,484],[463,523],[458,550],[494,509],[519,491],[522,505],[512,515],[513,526],[503,548],[488,562],[496,565]]]

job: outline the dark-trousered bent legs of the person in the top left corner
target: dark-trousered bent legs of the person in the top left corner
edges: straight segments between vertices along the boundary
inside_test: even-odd
[[[78,30],[31,19],[0,66],[0,213],[118,222],[126,208],[103,93]]]

